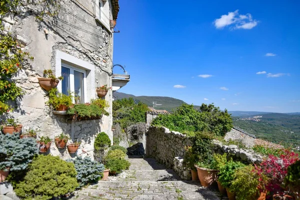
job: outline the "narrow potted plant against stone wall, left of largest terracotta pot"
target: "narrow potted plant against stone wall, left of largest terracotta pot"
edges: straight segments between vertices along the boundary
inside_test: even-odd
[[[185,154],[183,157],[183,165],[187,167],[191,172],[191,180],[199,180],[197,169],[194,164],[197,161],[197,155],[192,152],[191,146],[185,146]]]

